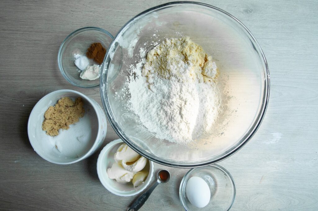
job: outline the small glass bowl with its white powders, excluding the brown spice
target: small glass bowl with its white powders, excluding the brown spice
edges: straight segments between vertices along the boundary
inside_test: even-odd
[[[93,43],[100,43],[107,50],[113,38],[108,31],[98,27],[84,27],[68,35],[58,54],[59,69],[66,81],[81,88],[98,87],[101,63],[87,58],[86,52]]]

